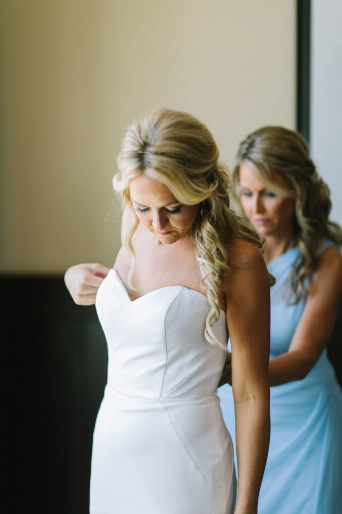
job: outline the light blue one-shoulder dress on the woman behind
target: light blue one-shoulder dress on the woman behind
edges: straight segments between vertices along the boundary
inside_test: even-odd
[[[324,249],[331,246],[328,242]],[[296,247],[268,265],[271,288],[270,358],[287,352],[306,300],[289,305]],[[235,445],[234,400],[226,384],[218,390]],[[342,512],[342,393],[327,350],[303,380],[271,388],[271,440],[259,496],[262,514]],[[235,453],[236,463],[236,453]]]

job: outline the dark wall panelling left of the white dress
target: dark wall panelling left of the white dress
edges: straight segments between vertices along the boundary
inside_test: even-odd
[[[62,278],[3,278],[1,285],[2,507],[87,512],[107,374],[95,308],[75,305]]]

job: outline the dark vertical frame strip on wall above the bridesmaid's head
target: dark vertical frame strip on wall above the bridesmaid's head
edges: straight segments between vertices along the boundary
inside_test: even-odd
[[[296,128],[310,141],[311,0],[297,0]]]

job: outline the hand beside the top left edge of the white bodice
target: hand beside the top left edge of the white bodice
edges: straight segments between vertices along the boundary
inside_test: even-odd
[[[77,305],[93,305],[97,289],[110,268],[102,264],[76,264],[67,269],[64,282]]]

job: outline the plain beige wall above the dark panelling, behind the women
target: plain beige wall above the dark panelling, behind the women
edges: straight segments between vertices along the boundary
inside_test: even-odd
[[[207,123],[229,166],[248,132],[294,127],[294,0],[3,0],[1,17],[2,271],[112,265],[115,157],[147,108]]]

